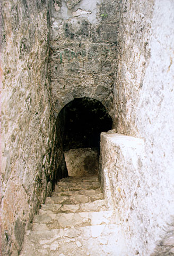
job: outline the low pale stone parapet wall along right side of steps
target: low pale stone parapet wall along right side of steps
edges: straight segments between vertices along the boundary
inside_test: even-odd
[[[139,209],[144,198],[141,196],[144,141],[114,131],[103,132],[100,154],[103,192],[108,204],[118,211],[127,241],[126,255],[136,255],[144,243],[147,222],[143,217],[148,212],[148,209],[144,209],[144,215],[140,219]]]

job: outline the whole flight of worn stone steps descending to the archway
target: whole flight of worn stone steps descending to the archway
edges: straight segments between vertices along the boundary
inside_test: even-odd
[[[107,209],[97,176],[65,178],[34,217],[22,256],[121,255],[116,213]]]

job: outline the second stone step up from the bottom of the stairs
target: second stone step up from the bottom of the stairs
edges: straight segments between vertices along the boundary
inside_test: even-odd
[[[32,230],[51,230],[57,228],[85,227],[116,223],[116,212],[79,212],[39,214],[33,219]]]

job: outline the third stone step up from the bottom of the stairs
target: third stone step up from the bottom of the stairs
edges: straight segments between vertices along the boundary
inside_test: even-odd
[[[85,204],[42,204],[39,214],[98,212],[107,210],[104,199]]]

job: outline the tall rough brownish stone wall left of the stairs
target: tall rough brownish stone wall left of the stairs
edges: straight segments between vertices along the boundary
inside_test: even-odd
[[[54,169],[48,1],[3,1],[1,19],[2,255],[19,255]]]

